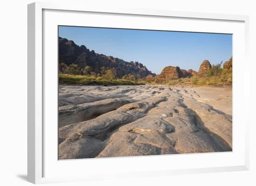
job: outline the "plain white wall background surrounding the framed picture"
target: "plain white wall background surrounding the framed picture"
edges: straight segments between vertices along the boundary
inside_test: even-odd
[[[44,0],[63,2],[64,0]],[[65,0],[68,1],[68,0]],[[0,185],[27,186],[27,4],[33,0],[2,0],[0,3]],[[254,0],[70,0],[85,5],[115,5],[169,9],[174,11],[244,14],[250,16],[251,85],[256,85],[256,11]],[[96,183],[60,183],[50,185],[256,185],[256,89],[250,90],[250,170],[229,173],[205,173],[116,180]],[[100,168],[100,167],[99,167]]]

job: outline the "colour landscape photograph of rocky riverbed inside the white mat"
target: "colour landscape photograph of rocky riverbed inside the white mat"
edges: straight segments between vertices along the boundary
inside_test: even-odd
[[[58,160],[232,152],[232,39],[58,26]]]

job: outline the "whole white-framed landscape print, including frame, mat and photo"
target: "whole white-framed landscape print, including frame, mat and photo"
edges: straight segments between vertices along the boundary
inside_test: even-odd
[[[248,21],[28,5],[28,181],[248,170]]]

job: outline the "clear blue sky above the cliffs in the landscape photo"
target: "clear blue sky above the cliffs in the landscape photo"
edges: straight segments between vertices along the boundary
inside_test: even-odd
[[[217,64],[232,56],[231,34],[59,26],[59,36],[90,51],[138,61],[156,74],[166,66],[198,71],[204,59]]]

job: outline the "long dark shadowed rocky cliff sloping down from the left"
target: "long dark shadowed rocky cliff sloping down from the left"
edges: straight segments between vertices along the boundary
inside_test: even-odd
[[[59,37],[59,63],[67,65],[74,63],[82,68],[90,66],[96,73],[100,73],[101,67],[115,68],[119,78],[128,74],[139,74],[141,77],[155,76],[139,62],[126,62],[119,58],[98,54],[93,50],[90,51],[85,45],[78,46],[74,41],[61,37]]]

